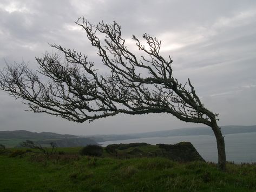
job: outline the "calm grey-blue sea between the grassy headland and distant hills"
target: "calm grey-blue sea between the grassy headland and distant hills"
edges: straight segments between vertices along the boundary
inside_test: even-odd
[[[225,135],[226,159],[237,164],[256,162],[256,132]],[[129,140],[100,142],[102,147],[113,143],[175,144],[191,142],[198,153],[208,162],[218,162],[216,138],[214,135],[190,135],[170,137],[136,138]]]

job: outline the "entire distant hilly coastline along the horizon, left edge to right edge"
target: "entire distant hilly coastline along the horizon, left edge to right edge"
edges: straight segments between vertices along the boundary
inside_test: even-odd
[[[256,132],[256,125],[239,126],[228,125],[221,127],[223,135],[239,134],[239,133],[253,133]],[[169,137],[169,136],[188,136],[188,135],[213,135],[213,131],[209,127],[197,128],[181,128],[164,131],[153,131],[139,134],[123,134],[123,135],[94,135],[94,136],[76,136],[76,135],[62,135],[50,132],[35,133],[25,130],[17,131],[0,131],[0,143],[5,144],[5,140],[11,140],[11,143],[16,145],[24,140],[33,140],[42,144],[56,142],[59,147],[76,147],[85,146],[87,144],[97,144],[97,142],[128,140],[133,138],[148,138],[148,137]],[[9,141],[8,141],[9,142]],[[7,143],[8,143],[7,142]],[[10,142],[9,142],[10,143]],[[12,144],[11,146],[14,146]]]

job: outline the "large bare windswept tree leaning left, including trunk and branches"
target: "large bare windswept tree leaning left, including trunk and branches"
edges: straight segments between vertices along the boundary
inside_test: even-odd
[[[30,111],[79,123],[119,113],[165,112],[181,121],[208,125],[216,137],[219,168],[225,169],[225,143],[217,124],[218,114],[205,108],[189,78],[181,84],[173,76],[172,59],[160,55],[161,41],[144,34],[145,47],[133,35],[142,52],[137,57],[127,48],[121,37],[121,26],[116,22],[93,25],[83,18],[75,23],[97,48],[108,75],[95,69],[86,55],[51,44],[57,53],[46,52],[43,57],[37,57],[37,72],[24,63],[7,65],[0,74],[0,89],[22,98]]]

